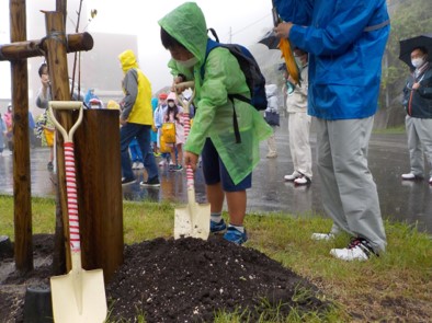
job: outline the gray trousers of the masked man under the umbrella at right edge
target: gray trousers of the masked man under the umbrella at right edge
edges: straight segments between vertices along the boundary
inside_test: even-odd
[[[405,119],[408,136],[409,161],[411,173],[424,176],[424,154],[429,162],[429,175],[432,177],[432,119]]]

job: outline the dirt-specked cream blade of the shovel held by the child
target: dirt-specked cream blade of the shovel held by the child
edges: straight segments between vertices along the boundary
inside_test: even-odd
[[[207,240],[209,226],[209,204],[190,203],[174,210],[174,239],[192,237]]]

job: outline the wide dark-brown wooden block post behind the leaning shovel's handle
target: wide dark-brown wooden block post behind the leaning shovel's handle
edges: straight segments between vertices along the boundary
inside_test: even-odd
[[[82,267],[110,281],[124,247],[118,111],[86,109],[75,138]]]

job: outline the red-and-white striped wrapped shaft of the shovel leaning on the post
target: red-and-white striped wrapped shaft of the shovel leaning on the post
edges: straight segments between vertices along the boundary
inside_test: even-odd
[[[75,171],[73,142],[65,142],[65,173],[66,173],[66,194],[69,217],[69,240],[72,252],[80,252],[80,228],[78,216],[78,194]]]

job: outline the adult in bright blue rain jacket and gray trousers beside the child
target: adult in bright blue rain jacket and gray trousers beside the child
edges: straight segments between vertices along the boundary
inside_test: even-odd
[[[316,117],[318,173],[323,209],[333,220],[329,240],[341,230],[346,247],[330,254],[366,261],[386,249],[367,148],[377,111],[382,58],[389,35],[385,0],[274,0],[283,19],[275,28],[309,53],[308,114]]]

